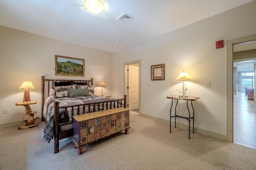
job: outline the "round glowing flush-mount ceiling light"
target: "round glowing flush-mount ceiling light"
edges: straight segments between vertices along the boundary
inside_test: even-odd
[[[84,8],[93,14],[100,14],[105,10],[105,6],[100,0],[84,0]]]

